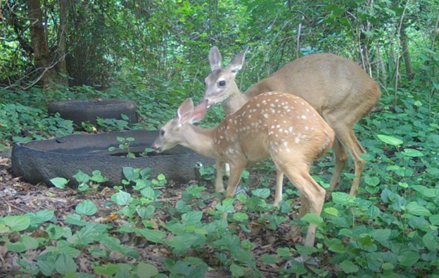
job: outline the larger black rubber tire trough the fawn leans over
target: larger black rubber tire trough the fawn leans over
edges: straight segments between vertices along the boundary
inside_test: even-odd
[[[27,182],[45,182],[52,185],[53,177],[70,179],[70,185],[77,185],[73,175],[79,170],[91,175],[100,170],[109,179],[104,186],[121,184],[122,167],[151,168],[151,175],[164,174],[168,180],[189,182],[199,179],[196,165],[214,165],[215,161],[205,158],[182,146],[165,153],[147,157],[126,158],[120,149],[110,152],[110,146],[119,146],[117,137],[133,137],[135,141],[129,151],[140,153],[150,147],[158,131],[131,130],[127,132],[106,132],[102,134],[73,134],[57,139],[28,141],[14,144],[12,150],[13,174]]]

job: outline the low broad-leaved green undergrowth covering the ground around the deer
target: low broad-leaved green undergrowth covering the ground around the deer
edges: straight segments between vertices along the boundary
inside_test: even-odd
[[[182,91],[169,94],[152,93],[146,88],[132,91],[110,89],[94,91],[87,87],[63,92],[66,99],[112,98],[123,95],[139,102],[141,122],[132,128],[157,129],[169,120],[178,104],[185,99]],[[79,93],[78,93],[79,92]],[[289,184],[284,189],[284,202],[279,210],[271,205],[273,190],[272,165],[261,163],[250,172],[254,179],[245,179],[246,193],[236,200],[222,202],[208,194],[212,191],[212,168],[203,168],[204,184],[191,184],[182,189],[177,201],[164,200],[167,181],[163,175],[150,177],[147,169],[125,168],[125,180],[116,187],[108,201],[112,217],[98,222],[93,215],[99,209],[84,195],[75,213],[65,220],[55,213],[41,210],[24,215],[0,218],[0,242],[7,252],[18,258],[20,270],[16,277],[203,277],[212,268],[220,268],[233,277],[263,277],[269,266],[283,265],[293,255],[313,255],[322,258],[322,267],[307,270],[293,261],[290,270],[279,267],[279,277],[292,273],[303,277],[439,277],[439,125],[437,104],[402,91],[404,99],[393,106],[393,96],[384,95],[378,112],[371,113],[355,127],[357,137],[368,153],[360,193],[357,197],[344,192],[353,175],[345,170],[338,191],[324,205],[320,217],[306,215],[291,220],[297,191]],[[0,102],[0,141],[11,146],[16,141],[84,132],[87,125],[77,127],[56,115],[47,115],[42,91],[33,100],[5,96]],[[17,95],[18,94],[18,95]],[[51,99],[60,92],[51,92]],[[160,97],[159,97],[160,96]],[[161,98],[161,99],[160,99]],[[16,101],[13,102],[13,99]],[[18,99],[18,100],[17,100]],[[205,125],[214,125],[222,118],[220,109],[209,113]],[[103,124],[94,130],[108,131],[126,127]],[[134,158],[135,159],[135,158]],[[121,165],[123,166],[123,165]],[[333,161],[322,159],[314,163],[312,175],[327,185]],[[98,169],[96,169],[98,171]],[[97,194],[98,184],[105,180],[99,172],[91,177],[77,175],[79,190]],[[62,177],[60,177],[62,178]],[[62,179],[54,181],[63,184]],[[343,186],[344,185],[344,186]],[[160,213],[168,217],[162,221]],[[229,213],[226,222],[220,215]],[[160,221],[158,221],[160,219]],[[272,253],[256,255],[260,246],[248,238],[250,227],[262,225],[276,234],[299,224],[305,230],[316,223],[315,247],[277,244]],[[39,231],[39,233],[35,233]],[[247,235],[247,236],[246,236]],[[129,236],[129,240],[122,240]],[[276,238],[277,239],[277,238]],[[167,250],[163,265],[137,260],[142,241]],[[112,252],[120,254],[119,260]],[[35,255],[37,253],[37,255]],[[80,273],[79,254],[87,253],[93,272]],[[124,258],[123,260],[121,258]],[[208,258],[208,260],[206,260]]]

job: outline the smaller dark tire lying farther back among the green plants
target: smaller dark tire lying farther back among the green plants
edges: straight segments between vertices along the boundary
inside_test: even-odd
[[[96,125],[96,118],[122,120],[127,115],[129,124],[136,123],[137,104],[125,99],[87,99],[74,101],[56,101],[47,107],[49,114],[59,113],[61,118],[72,120],[75,125],[90,122]]]

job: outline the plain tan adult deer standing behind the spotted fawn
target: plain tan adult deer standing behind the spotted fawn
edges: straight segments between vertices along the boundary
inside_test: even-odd
[[[378,84],[356,63],[333,54],[318,53],[288,63],[241,94],[235,77],[243,65],[246,51],[238,53],[229,65],[221,68],[220,51],[215,46],[210,49],[212,72],[205,79],[203,101],[208,101],[208,107],[222,103],[224,112],[229,115],[254,96],[267,91],[284,91],[305,99],[336,132],[333,143],[336,162],[329,191],[338,183],[348,160],[347,150],[355,164],[355,179],[350,188],[350,194],[355,196],[364,168],[360,155],[366,151],[355,137],[353,127],[380,99]]]

